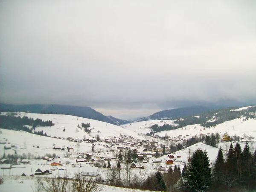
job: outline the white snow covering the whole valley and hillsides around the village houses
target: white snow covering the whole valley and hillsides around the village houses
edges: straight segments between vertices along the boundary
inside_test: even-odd
[[[3,114],[3,113],[2,113]],[[163,125],[164,123],[167,124],[173,124],[172,120],[156,120],[156,121],[146,121],[146,122],[136,122],[132,124],[123,125],[124,128],[112,125],[106,122],[99,122],[92,119],[85,119],[81,117],[76,116],[68,116],[68,115],[53,115],[53,114],[35,114],[35,113],[17,113],[19,116],[28,116],[32,117],[34,119],[39,118],[43,120],[51,120],[53,123],[55,123],[52,127],[38,127],[36,128],[37,131],[44,131],[47,133],[47,135],[51,135],[58,137],[61,137],[62,139],[55,139],[52,137],[44,137],[39,136],[35,134],[30,134],[28,132],[24,131],[13,131],[13,130],[6,130],[0,128],[0,141],[2,144],[0,144],[0,157],[3,157],[3,154],[8,156],[8,154],[15,154],[15,151],[17,154],[22,155],[24,154],[26,158],[28,157],[28,154],[33,157],[43,157],[45,154],[53,154],[55,153],[58,158],[50,159],[51,161],[47,160],[29,160],[30,162],[28,164],[21,164],[17,166],[12,166],[12,169],[0,169],[0,176],[3,177],[4,183],[0,185],[0,191],[2,192],[19,192],[19,191],[33,191],[34,186],[34,180],[35,177],[42,177],[42,176],[35,176],[35,177],[22,177],[23,173],[26,175],[35,174],[35,171],[40,169],[49,169],[52,170],[51,175],[47,175],[49,177],[55,177],[57,175],[64,176],[65,174],[68,174],[69,177],[73,177],[74,173],[81,172],[82,169],[86,168],[87,166],[93,166],[93,163],[91,162],[82,162],[81,167],[76,167],[76,165],[80,165],[76,163],[76,159],[70,159],[70,157],[67,157],[68,151],[67,147],[71,147],[73,149],[70,150],[70,154],[79,156],[81,154],[92,154],[92,158],[96,157],[111,157],[113,158],[114,152],[113,151],[119,151],[118,147],[130,147],[131,149],[137,149],[138,154],[155,154],[154,151],[147,151],[143,152],[144,147],[139,146],[139,141],[148,139],[149,141],[155,141],[158,142],[155,145],[160,148],[160,144],[164,144],[166,146],[170,145],[169,141],[160,140],[153,137],[148,137],[143,134],[147,133],[149,131],[149,127],[154,124]],[[83,129],[80,129],[77,127],[81,126],[81,123],[89,123],[90,122],[90,128],[94,128],[91,131],[91,134],[87,134],[84,132]],[[65,128],[65,131],[63,129]],[[171,138],[184,138],[188,139],[191,137],[194,137],[196,135],[204,134],[209,135],[211,133],[218,132],[220,135],[227,132],[230,136],[236,135],[240,137],[246,136],[243,140],[241,140],[240,145],[241,148],[244,147],[244,140],[247,140],[250,142],[250,148],[252,149],[252,152],[254,152],[256,148],[256,120],[255,119],[245,119],[245,118],[239,118],[234,119],[232,121],[224,122],[220,125],[216,125],[212,128],[204,128],[201,125],[188,125],[183,128],[179,128],[172,131],[163,131],[160,133],[157,133],[159,136],[165,136],[166,134],[169,135]],[[102,140],[105,140],[105,138],[109,137],[116,137],[117,139],[121,137],[122,135],[125,135],[126,138],[130,137],[129,139],[126,139],[122,143],[119,143],[116,145],[116,143],[113,146],[110,146],[111,144],[107,144],[104,141],[96,142],[94,151],[92,151],[92,144],[91,143],[77,143],[77,142],[71,142],[67,140],[67,137],[73,137],[73,138],[83,138],[84,136],[88,139],[91,139],[92,137],[95,137],[96,134],[99,134]],[[250,140],[249,140],[250,138]],[[109,141],[111,141],[109,139]],[[136,142],[137,144],[135,146],[130,146],[133,142]],[[180,141],[181,142],[181,141]],[[225,143],[218,143],[218,148],[222,147],[224,152],[227,151],[229,148],[231,142],[225,142]],[[147,143],[149,144],[149,142]],[[233,143],[235,145],[236,143]],[[12,145],[11,149],[5,149],[5,145]],[[105,145],[105,146],[104,146]],[[107,145],[110,147],[107,148]],[[64,148],[64,151],[62,150],[56,150],[55,147]],[[213,162],[217,156],[218,148],[205,145],[203,143],[196,143],[195,145],[192,145],[188,148],[184,148],[180,151],[177,151],[173,153],[175,157],[175,162],[172,165],[166,165],[166,160],[169,159],[167,155],[164,155],[159,158],[148,158],[148,163],[144,163],[143,166],[148,169],[148,174],[154,173],[157,171],[157,169],[160,169],[161,172],[166,172],[169,166],[180,166],[180,169],[183,169],[183,166],[185,163],[188,163],[188,157],[192,156],[193,151],[195,151],[197,148],[201,148],[203,150],[206,150],[208,152],[208,156],[211,162]],[[112,150],[112,151],[111,151]],[[124,149],[125,150],[125,149]],[[177,157],[180,156],[180,157]],[[80,158],[80,157],[79,157]],[[84,158],[84,157],[81,157]],[[159,163],[153,163],[153,161],[159,161]],[[53,169],[53,167],[50,165],[53,161],[60,162],[63,166],[57,166],[56,169]],[[18,160],[18,163],[20,162],[20,159]],[[111,166],[116,166],[116,161],[112,159],[110,161]],[[74,166],[72,166],[72,164]],[[2,167],[3,165],[1,165]],[[121,163],[121,167],[124,167],[124,164]],[[99,170],[100,176],[103,179],[106,179],[106,168],[100,168]],[[139,169],[134,168],[132,169],[132,174],[136,175],[139,172]],[[124,188],[118,188],[118,187],[112,187],[112,186],[106,186],[103,192],[108,191],[120,191],[120,192],[135,192],[140,191],[137,189],[124,189]]]

